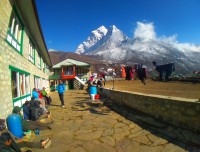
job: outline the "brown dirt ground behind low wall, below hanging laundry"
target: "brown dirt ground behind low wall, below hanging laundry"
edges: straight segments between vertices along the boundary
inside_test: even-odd
[[[165,96],[183,97],[190,99],[200,98],[200,83],[189,82],[158,82],[152,80],[146,80],[147,85],[143,85],[141,81],[115,81],[115,90],[125,90],[131,92],[140,92],[146,94],[157,94]],[[106,88],[113,88],[113,82],[106,82]]]

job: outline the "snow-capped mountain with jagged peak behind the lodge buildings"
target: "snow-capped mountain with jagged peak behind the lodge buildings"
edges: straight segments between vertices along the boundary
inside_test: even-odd
[[[140,24],[140,23],[139,23]],[[145,31],[146,32],[146,31]],[[172,38],[156,38],[154,31],[150,38],[141,30],[134,38],[128,38],[116,26],[108,29],[101,26],[92,31],[85,42],[75,51],[78,54],[91,55],[106,61],[123,64],[144,63],[150,69],[152,61],[159,64],[174,62],[176,71],[181,73],[200,70],[200,46],[172,42]],[[189,47],[190,46],[190,47]]]

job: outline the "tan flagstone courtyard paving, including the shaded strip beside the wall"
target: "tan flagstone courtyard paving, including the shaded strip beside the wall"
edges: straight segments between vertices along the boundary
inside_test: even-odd
[[[66,91],[65,108],[53,92],[48,152],[200,152],[200,135],[158,121],[108,99],[91,101],[82,91]],[[191,122],[192,123],[192,122]],[[39,152],[41,149],[32,149]]]

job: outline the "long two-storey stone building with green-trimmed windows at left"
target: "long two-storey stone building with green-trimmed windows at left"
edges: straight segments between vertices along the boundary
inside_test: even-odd
[[[0,0],[0,118],[49,89],[52,66],[34,0]]]

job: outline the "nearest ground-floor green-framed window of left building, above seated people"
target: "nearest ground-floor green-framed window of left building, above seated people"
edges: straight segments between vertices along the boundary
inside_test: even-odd
[[[30,94],[30,74],[11,67],[12,97],[18,98]]]

